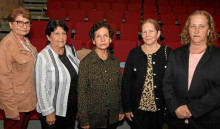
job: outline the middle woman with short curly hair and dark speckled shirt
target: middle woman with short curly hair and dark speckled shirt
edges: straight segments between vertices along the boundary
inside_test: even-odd
[[[121,70],[108,50],[113,30],[98,22],[89,32],[95,45],[79,66],[78,114],[83,129],[116,129],[124,118],[121,104]]]

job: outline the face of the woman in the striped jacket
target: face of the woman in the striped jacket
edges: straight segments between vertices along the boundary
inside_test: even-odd
[[[50,41],[52,48],[63,48],[67,41],[66,31],[62,27],[58,26],[53,32],[51,32],[50,36],[47,35],[47,39]]]

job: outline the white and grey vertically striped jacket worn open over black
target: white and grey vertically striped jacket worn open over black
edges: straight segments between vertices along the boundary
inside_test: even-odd
[[[66,55],[78,73],[79,59],[66,45]],[[71,77],[68,69],[60,61],[50,45],[45,47],[37,56],[34,68],[34,80],[37,93],[37,112],[43,116],[55,113],[66,116],[67,101]]]

